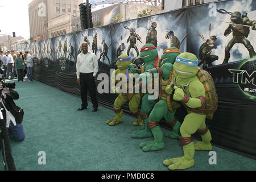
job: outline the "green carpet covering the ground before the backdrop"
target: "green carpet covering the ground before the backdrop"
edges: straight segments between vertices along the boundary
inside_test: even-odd
[[[42,82],[16,81],[15,90],[20,95],[16,105],[24,109],[26,134],[23,142],[11,139],[17,170],[168,171],[163,160],[183,155],[179,140],[167,137],[163,150],[143,152],[139,143],[153,138],[131,138],[131,131],[139,129],[132,125],[134,118],[123,115],[122,123],[110,127],[105,122],[114,117],[112,110],[100,106],[92,113],[89,102],[87,110],[77,111],[80,98]],[[38,164],[39,151],[46,152],[45,165]],[[253,159],[215,146],[213,151],[217,154],[216,165],[208,163],[209,151],[196,151],[195,166],[187,170],[256,169]]]

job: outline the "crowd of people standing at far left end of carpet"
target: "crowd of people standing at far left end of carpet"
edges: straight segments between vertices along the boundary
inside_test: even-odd
[[[30,52],[0,51],[0,67],[3,69],[3,79],[14,80],[18,78],[19,82],[28,78],[32,82],[33,60]]]

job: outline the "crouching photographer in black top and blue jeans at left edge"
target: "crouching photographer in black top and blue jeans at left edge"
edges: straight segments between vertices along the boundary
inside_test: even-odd
[[[7,132],[13,136],[14,140],[21,142],[26,137],[22,125],[23,115],[20,115],[20,108],[13,101],[19,99],[19,94],[8,87],[3,88],[2,82],[0,82],[0,91]]]

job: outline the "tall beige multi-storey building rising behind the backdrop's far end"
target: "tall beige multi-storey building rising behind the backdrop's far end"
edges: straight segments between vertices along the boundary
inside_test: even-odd
[[[28,5],[30,37],[43,40],[71,32],[83,0],[34,0]]]

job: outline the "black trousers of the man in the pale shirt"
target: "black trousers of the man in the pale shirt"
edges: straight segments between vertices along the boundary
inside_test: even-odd
[[[90,98],[94,107],[98,107],[98,100],[96,96],[96,84],[93,73],[80,73],[80,86],[81,86],[81,100],[82,107],[87,107],[87,89],[90,93]]]

